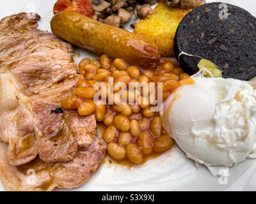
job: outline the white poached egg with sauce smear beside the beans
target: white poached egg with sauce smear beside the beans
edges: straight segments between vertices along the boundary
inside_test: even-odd
[[[164,129],[186,156],[206,166],[255,157],[256,97],[247,82],[193,76],[166,100]]]

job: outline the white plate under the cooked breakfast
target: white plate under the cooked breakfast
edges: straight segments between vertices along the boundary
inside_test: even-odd
[[[0,18],[23,12],[36,12],[42,19],[39,28],[51,31],[50,20],[56,0],[1,0]],[[207,1],[207,3],[212,1]],[[255,0],[230,0],[225,3],[241,6],[256,16]],[[1,43],[1,42],[0,42]],[[81,56],[77,56],[77,52]],[[84,57],[99,58],[99,55],[82,49],[74,50],[74,59],[79,62]],[[256,161],[247,159],[230,169],[230,177],[212,177],[209,171],[186,159],[175,147],[157,159],[146,164],[127,168],[116,164],[102,164],[99,171],[82,186],[72,191],[255,191]],[[0,184],[0,190],[3,186]]]

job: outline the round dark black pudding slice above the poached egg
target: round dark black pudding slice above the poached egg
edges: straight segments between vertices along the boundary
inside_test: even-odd
[[[205,58],[219,66],[224,78],[250,80],[256,76],[256,18],[231,4],[223,18],[220,4],[198,6],[182,19],[174,39],[175,55],[190,75]]]

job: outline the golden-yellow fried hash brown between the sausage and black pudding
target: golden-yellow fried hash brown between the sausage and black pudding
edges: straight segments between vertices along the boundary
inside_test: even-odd
[[[192,9],[172,8],[165,3],[157,4],[152,14],[136,24],[134,33],[156,43],[162,57],[174,56],[173,38],[180,20]]]

